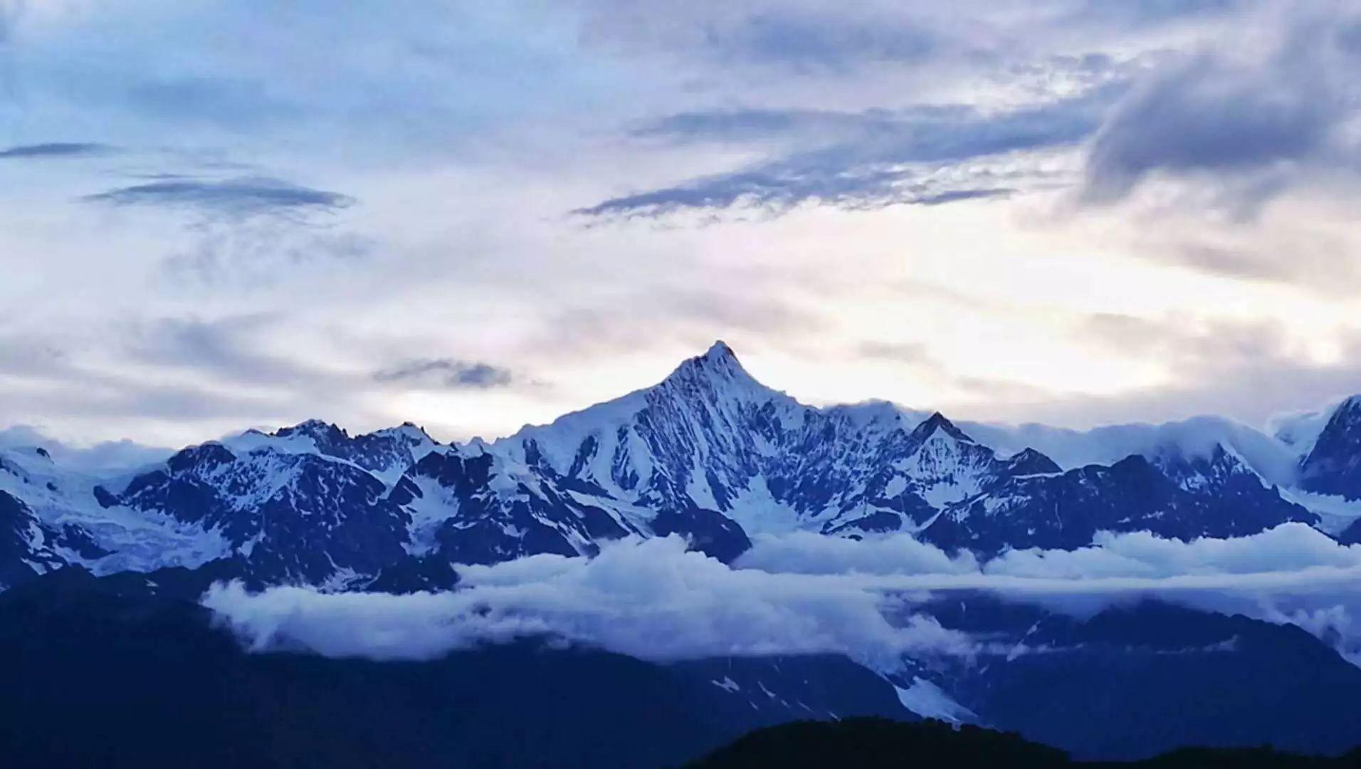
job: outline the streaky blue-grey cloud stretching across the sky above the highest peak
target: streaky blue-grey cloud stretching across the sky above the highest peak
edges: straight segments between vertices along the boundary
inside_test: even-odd
[[[844,208],[876,208],[1007,196],[1021,185],[1044,181],[1043,174],[973,163],[969,169],[951,166],[1074,144],[1097,129],[1104,109],[1121,91],[1123,86],[1111,84],[1000,114],[966,106],[898,113],[728,110],[675,114],[637,133],[676,142],[785,135],[795,144],[813,143],[814,147],[747,169],[612,197],[576,214],[660,216],[735,206],[781,212],[810,200]],[[836,139],[827,142],[829,135]]]

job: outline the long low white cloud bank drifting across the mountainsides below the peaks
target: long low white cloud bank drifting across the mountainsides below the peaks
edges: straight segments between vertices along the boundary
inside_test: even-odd
[[[1292,622],[1361,659],[1361,546],[1302,524],[1230,540],[1101,535],[1071,553],[981,565],[906,536],[795,534],[758,539],[736,568],[666,538],[619,542],[593,559],[535,555],[459,572],[460,588],[440,593],[219,584],[203,603],[255,651],[431,659],[547,636],[648,660],[836,652],[893,671],[904,656],[995,651],[913,608],[934,592],[989,591],[1072,614],[1158,598]]]

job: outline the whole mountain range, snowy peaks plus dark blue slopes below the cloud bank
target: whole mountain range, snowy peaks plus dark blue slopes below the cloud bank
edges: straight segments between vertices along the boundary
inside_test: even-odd
[[[554,637],[416,661],[255,655],[200,604],[226,580],[456,588],[463,565],[668,535],[724,562],[791,534],[909,535],[984,562],[1098,532],[1232,539],[1293,523],[1351,543],[1361,397],[1271,436],[1213,416],[954,423],[800,404],[717,343],[652,388],[493,442],[312,421],[90,467],[0,448],[0,758],[161,765],[206,746],[219,765],[661,766],[750,728],[851,715],[1015,730],[1078,758],[1361,742],[1361,668],[1324,632],[1153,600],[1072,615],[932,589],[905,611],[988,651],[891,670],[836,655],[659,663]]]

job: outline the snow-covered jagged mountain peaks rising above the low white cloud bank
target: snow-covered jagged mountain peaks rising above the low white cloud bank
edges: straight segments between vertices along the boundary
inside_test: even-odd
[[[494,442],[310,421],[135,471],[54,456],[0,448],[3,585],[68,563],[216,562],[256,584],[410,591],[448,587],[452,563],[671,534],[723,561],[793,531],[911,534],[980,558],[1098,531],[1230,538],[1286,521],[1361,540],[1361,396],[1274,436],[1211,416],[957,425],[890,403],[804,406],[721,342],[655,387]]]

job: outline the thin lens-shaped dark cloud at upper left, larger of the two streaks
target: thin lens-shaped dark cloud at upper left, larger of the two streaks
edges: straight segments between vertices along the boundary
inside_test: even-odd
[[[214,215],[246,218],[261,214],[305,215],[336,211],[354,204],[338,192],[299,186],[268,177],[231,180],[173,178],[120,186],[86,196],[93,203],[114,206],[186,207]]]

